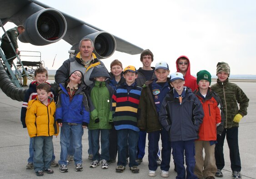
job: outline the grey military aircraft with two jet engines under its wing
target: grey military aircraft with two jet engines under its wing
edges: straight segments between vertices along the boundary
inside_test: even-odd
[[[33,45],[48,45],[63,39],[72,45],[70,50],[77,52],[80,40],[90,38],[95,44],[94,53],[99,59],[110,57],[115,50],[131,55],[143,50],[37,0],[0,0],[0,20],[3,25],[8,21],[24,25],[25,32],[19,35],[19,40]],[[0,87],[12,99],[23,100],[25,90],[15,88],[1,64]]]

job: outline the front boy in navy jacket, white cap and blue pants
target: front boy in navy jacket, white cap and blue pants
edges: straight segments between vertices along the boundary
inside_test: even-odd
[[[184,87],[185,80],[181,73],[171,74],[170,82],[174,89],[166,95],[162,102],[159,120],[169,132],[172,155],[176,162],[176,179],[197,179],[194,174],[195,139],[198,139],[197,132],[202,123],[204,111],[196,95]]]

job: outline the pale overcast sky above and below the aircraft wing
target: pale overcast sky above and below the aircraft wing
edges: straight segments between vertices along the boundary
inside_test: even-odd
[[[150,49],[154,54],[152,66],[166,61],[171,73],[176,72],[177,57],[186,55],[193,75],[199,70],[215,74],[220,61],[230,65],[231,75],[256,75],[255,0],[40,1],[143,49]],[[8,23],[5,28],[13,26]],[[0,33],[2,35],[2,31]],[[40,51],[45,67],[55,70],[69,58],[70,47],[64,40],[46,46],[19,43],[19,50]],[[110,69],[115,59],[120,60],[123,67],[142,66],[140,55],[120,52],[103,62]]]

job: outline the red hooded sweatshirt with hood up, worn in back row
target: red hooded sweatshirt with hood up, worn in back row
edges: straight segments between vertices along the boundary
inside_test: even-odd
[[[192,89],[192,91],[195,91],[198,87],[197,83],[196,83],[196,77],[192,76],[190,74],[190,61],[188,59],[187,56],[185,55],[181,55],[177,60],[176,60],[176,69],[177,69],[177,72],[180,72],[181,71],[179,70],[178,68],[178,60],[180,58],[186,58],[188,60],[188,67],[187,67],[187,71],[186,71],[186,75],[184,76],[184,79],[185,79],[185,85],[184,86],[187,86],[187,87],[190,87]]]

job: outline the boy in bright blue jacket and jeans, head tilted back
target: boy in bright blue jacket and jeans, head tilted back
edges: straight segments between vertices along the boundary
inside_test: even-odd
[[[75,171],[82,171],[82,136],[90,121],[90,109],[85,95],[83,73],[74,71],[65,83],[60,84],[58,103],[56,104],[55,120],[61,127],[60,131],[60,172],[67,172],[66,161],[70,136],[74,147]]]

